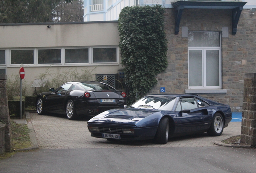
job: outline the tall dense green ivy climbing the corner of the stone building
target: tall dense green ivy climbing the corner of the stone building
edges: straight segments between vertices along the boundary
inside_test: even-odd
[[[156,75],[167,67],[167,39],[161,6],[131,6],[122,9],[120,32],[121,63],[126,74],[128,103],[142,97],[157,84]]]

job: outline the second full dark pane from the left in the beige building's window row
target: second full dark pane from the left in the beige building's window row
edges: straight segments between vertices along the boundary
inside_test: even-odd
[[[38,64],[58,64],[61,63],[60,49],[38,50]]]

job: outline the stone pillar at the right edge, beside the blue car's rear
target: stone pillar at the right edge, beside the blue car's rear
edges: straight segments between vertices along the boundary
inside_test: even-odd
[[[241,142],[256,147],[256,73],[245,74]]]

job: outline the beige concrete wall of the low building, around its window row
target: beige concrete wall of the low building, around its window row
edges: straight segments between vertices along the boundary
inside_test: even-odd
[[[47,26],[51,26],[48,28]],[[116,46],[120,38],[118,34],[118,22],[70,22],[70,23],[36,23],[36,24],[0,24],[0,50],[12,48],[79,48],[89,46]],[[116,74],[123,67],[118,54],[118,62],[108,64],[11,64],[10,54],[6,51],[6,68],[8,78],[19,74],[19,68],[25,68],[24,82],[29,87],[28,95],[33,89],[30,88],[34,79],[40,74],[50,72],[51,74],[62,73],[67,69],[89,70],[92,79],[95,74]],[[119,50],[118,50],[119,52]],[[36,53],[35,53],[36,54]],[[36,56],[36,55],[35,55]],[[91,55],[90,55],[91,56]],[[67,74],[68,75],[68,74]],[[30,90],[31,89],[31,90]]]

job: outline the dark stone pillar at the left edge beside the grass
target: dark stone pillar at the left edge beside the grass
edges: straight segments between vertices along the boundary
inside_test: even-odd
[[[0,74],[0,120],[6,125],[5,129],[5,151],[11,151],[10,115],[8,109],[6,74]]]

